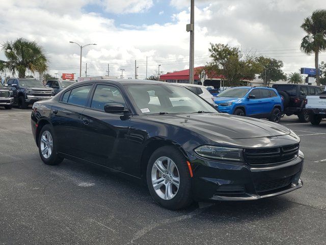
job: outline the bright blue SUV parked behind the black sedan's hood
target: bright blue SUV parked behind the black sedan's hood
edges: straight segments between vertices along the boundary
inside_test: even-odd
[[[269,87],[233,87],[214,97],[222,112],[239,116],[267,118],[279,122],[283,112],[283,99],[278,91]]]

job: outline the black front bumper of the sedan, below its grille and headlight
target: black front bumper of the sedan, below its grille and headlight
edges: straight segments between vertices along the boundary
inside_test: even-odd
[[[281,195],[301,188],[304,159],[256,167],[197,159],[192,162],[195,200],[246,201]]]

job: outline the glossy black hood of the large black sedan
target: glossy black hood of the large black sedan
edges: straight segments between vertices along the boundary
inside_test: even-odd
[[[208,138],[246,139],[290,134],[288,128],[274,122],[225,113],[151,115],[148,119],[180,126]]]

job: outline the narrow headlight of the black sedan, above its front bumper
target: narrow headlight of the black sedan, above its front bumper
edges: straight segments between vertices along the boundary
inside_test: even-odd
[[[202,157],[220,159],[226,161],[244,162],[243,149],[222,146],[202,145],[195,149]]]

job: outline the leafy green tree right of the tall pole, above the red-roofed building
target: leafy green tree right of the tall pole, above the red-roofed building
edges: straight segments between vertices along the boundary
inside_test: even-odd
[[[238,47],[211,43],[209,52],[212,61],[204,69],[223,75],[228,86],[239,85],[245,79],[254,80],[261,71],[255,57],[243,54]]]

